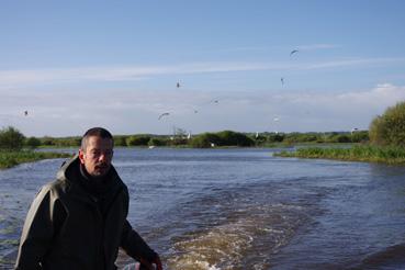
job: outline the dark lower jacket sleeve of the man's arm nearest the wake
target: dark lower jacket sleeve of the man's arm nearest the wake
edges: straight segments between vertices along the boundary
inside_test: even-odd
[[[145,240],[132,228],[128,221],[125,221],[121,247],[132,258],[148,262],[153,261],[157,254],[145,243]]]

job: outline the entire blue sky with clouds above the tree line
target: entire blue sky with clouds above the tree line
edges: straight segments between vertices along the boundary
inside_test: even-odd
[[[404,25],[402,0],[2,0],[0,127],[368,130],[405,100]]]

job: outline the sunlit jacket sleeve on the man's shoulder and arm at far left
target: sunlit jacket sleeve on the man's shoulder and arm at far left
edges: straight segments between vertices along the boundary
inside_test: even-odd
[[[55,223],[61,211],[49,188],[43,188],[31,204],[20,239],[15,269],[42,269],[41,261],[49,250]]]

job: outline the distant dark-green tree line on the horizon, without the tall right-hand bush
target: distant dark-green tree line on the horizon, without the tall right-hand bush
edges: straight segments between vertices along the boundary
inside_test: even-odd
[[[187,134],[173,135],[115,135],[114,144],[119,147],[271,147],[280,144],[293,145],[300,143],[365,143],[369,140],[367,131],[356,133],[239,133],[222,131],[202,133],[193,136]],[[0,130],[0,150],[20,150],[37,147],[79,147],[81,137],[25,137],[15,127]]]

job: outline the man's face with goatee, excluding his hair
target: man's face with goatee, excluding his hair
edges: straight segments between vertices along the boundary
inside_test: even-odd
[[[86,149],[79,150],[80,162],[92,177],[103,177],[110,170],[113,142],[110,138],[90,136]]]

